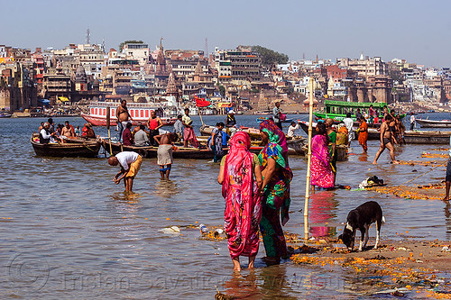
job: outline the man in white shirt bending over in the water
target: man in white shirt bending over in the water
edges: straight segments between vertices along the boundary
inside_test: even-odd
[[[131,192],[133,189],[133,179],[138,174],[142,162],[143,158],[141,155],[132,151],[123,151],[110,157],[108,159],[110,166],[121,166],[121,171],[113,177],[115,184],[119,184],[124,178],[125,191]]]

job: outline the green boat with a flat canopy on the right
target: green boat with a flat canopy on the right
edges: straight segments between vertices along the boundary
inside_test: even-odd
[[[360,108],[361,113],[364,114],[367,113],[370,114],[369,109],[370,105],[373,105],[373,109],[377,110],[379,112],[379,119],[382,120],[383,114],[382,109],[383,107],[387,106],[386,103],[380,103],[380,102],[347,102],[347,101],[335,101],[335,100],[326,100],[326,112],[325,113],[313,113],[318,118],[327,119],[331,118],[336,121],[342,121],[345,119],[347,113],[351,113],[351,118],[355,121],[355,112],[357,111],[357,108]],[[400,118],[404,118],[406,114],[400,114]]]

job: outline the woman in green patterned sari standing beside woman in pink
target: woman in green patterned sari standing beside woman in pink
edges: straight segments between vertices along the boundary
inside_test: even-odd
[[[266,144],[258,156],[263,177],[260,232],[266,251],[263,260],[273,265],[288,257],[281,226],[290,219],[290,182],[293,173],[288,165],[285,134],[272,120],[262,122],[260,132]]]

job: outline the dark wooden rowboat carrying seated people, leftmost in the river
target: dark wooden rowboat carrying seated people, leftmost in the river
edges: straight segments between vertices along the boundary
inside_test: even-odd
[[[56,158],[95,158],[101,142],[96,139],[69,138],[64,143],[41,144],[39,134],[33,133],[30,139],[37,156]]]

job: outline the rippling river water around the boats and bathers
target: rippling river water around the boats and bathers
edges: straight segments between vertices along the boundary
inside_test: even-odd
[[[427,115],[449,119],[449,114],[422,114]],[[236,115],[236,120],[239,125],[257,126],[255,117]],[[203,116],[212,125],[224,119]],[[54,118],[55,123],[66,120],[80,128],[84,123],[81,118]],[[198,133],[199,117],[193,120]],[[0,119],[2,299],[213,299],[216,287],[245,299],[372,298],[354,288],[362,278],[344,270],[331,272],[290,260],[265,267],[262,244],[255,270],[244,268],[241,276],[234,275],[226,241],[201,240],[197,228],[185,227],[224,223],[224,199],[216,183],[218,164],[176,159],[170,181],[161,181],[156,159],[144,159],[134,180],[135,194],[124,195],[124,185],[115,186],[112,181],[119,168],[110,167],[103,155],[97,159],[35,157],[30,136],[42,121]],[[94,130],[107,136],[106,128]],[[378,146],[379,141],[369,141],[368,156],[364,156],[353,141],[348,161],[337,164],[336,182],[355,188],[376,175],[388,185],[400,185],[431,168],[415,166],[417,172],[412,172],[411,166],[391,165],[388,151],[382,153],[380,165],[373,166]],[[423,151],[435,148],[397,147],[396,157],[419,159]],[[307,160],[290,156],[290,166],[292,213],[284,229],[303,236]],[[444,177],[445,168],[436,168],[412,184],[436,183]],[[399,232],[419,240],[451,240],[449,207],[442,201],[342,189],[311,195],[311,234],[338,232],[347,213],[368,200],[382,206],[386,219],[382,244],[384,239],[401,239]],[[179,226],[180,234],[161,232],[173,225]]]

